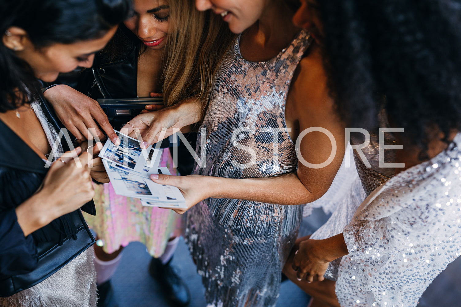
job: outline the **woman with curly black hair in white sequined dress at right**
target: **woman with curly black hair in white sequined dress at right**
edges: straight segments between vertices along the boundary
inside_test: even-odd
[[[368,197],[342,233],[297,242],[284,272],[307,279],[298,284],[315,297],[323,283],[316,280],[343,257],[341,306],[416,306],[461,253],[461,3],[302,2],[295,21],[319,30],[329,85],[349,123],[378,128],[372,121],[384,112],[391,127],[403,128],[371,134],[356,159]],[[403,148],[388,153],[388,144]]]

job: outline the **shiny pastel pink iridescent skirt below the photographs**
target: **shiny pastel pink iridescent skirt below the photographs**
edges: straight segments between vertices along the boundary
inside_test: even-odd
[[[177,175],[168,148],[163,150],[160,167]],[[111,183],[95,184],[95,192],[96,216],[83,215],[107,254],[137,241],[146,245],[151,256],[160,257],[168,239],[182,235],[182,216],[171,209],[143,207],[137,198],[116,195]]]

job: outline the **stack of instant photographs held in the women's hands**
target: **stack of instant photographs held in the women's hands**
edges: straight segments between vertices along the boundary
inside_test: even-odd
[[[159,167],[161,149],[140,147],[140,142],[114,130],[120,145],[110,140],[99,153],[107,175],[117,195],[140,198],[143,206],[187,208],[181,191],[173,186],[154,183],[151,174],[171,175],[166,167]]]

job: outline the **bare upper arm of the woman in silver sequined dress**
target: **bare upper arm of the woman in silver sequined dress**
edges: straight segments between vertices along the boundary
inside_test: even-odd
[[[309,193],[306,203],[319,199],[330,188],[345,152],[345,124],[326,84],[322,59],[313,46],[293,77],[285,114],[287,123],[290,119],[299,122],[299,135],[294,136],[299,148],[297,176]]]

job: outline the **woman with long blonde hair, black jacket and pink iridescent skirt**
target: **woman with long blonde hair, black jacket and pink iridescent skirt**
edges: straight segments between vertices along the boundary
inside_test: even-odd
[[[89,128],[95,128],[102,137],[99,124],[114,140],[112,125],[95,101],[99,98],[163,93],[168,107],[190,97],[208,101],[213,71],[229,46],[222,42],[231,42],[231,32],[214,14],[196,11],[191,0],[133,0],[133,7],[132,17],[96,56],[92,69],[80,74],[78,91],[64,84],[45,91],[58,116],[77,137],[88,136]],[[165,148],[160,167],[177,174],[171,162],[170,151]],[[177,306],[187,305],[187,287],[169,266],[182,231],[179,215],[118,196],[110,183],[96,187],[95,203],[100,214],[85,218],[102,243],[95,252],[101,296],[110,290],[109,281],[122,248],[139,241],[155,257],[149,271],[164,287],[166,298]]]

